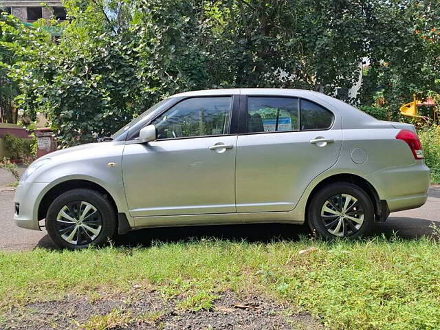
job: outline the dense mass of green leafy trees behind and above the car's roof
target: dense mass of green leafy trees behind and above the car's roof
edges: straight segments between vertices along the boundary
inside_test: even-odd
[[[439,89],[440,14],[430,1],[67,0],[66,6],[69,21],[47,23],[62,28],[58,42],[38,25],[16,28],[20,47],[8,50],[21,60],[5,66],[19,88],[19,109],[31,117],[45,113],[66,146],[110,135],[179,91],[283,87],[333,94],[355,84],[366,57],[364,104],[380,91],[397,109],[413,92]]]

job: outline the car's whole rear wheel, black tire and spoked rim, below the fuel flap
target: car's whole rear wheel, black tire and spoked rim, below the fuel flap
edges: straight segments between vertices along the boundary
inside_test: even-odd
[[[370,232],[374,206],[360,187],[339,182],[318,190],[309,204],[307,218],[311,231],[323,239],[354,239]]]

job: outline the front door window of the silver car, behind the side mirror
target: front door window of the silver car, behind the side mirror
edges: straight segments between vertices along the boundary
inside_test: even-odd
[[[232,97],[189,98],[159,115],[157,139],[228,134]]]

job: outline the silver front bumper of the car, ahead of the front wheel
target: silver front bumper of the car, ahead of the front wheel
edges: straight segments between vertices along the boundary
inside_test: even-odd
[[[14,223],[21,228],[41,230],[38,219],[38,208],[42,192],[47,186],[43,183],[23,184],[15,190],[14,203],[19,204],[19,212],[14,213]]]

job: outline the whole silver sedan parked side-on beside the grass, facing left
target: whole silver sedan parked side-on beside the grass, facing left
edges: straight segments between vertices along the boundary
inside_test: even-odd
[[[428,195],[414,126],[314,91],[177,94],[112,138],[32,163],[15,223],[72,249],[175,225],[307,222],[331,239],[365,234]]]

